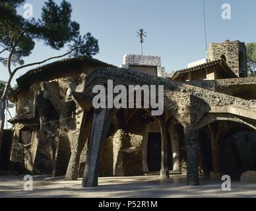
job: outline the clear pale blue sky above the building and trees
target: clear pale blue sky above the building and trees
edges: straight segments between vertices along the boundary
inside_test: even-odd
[[[33,6],[34,18],[41,15],[45,1],[27,0]],[[55,0],[60,3],[61,0]],[[203,0],[69,0],[72,18],[80,24],[82,34],[91,32],[99,40],[100,53],[95,56],[113,65],[121,65],[126,53],[141,53],[137,31],[143,28],[147,37],[144,54],[159,55],[166,72],[183,69],[187,63],[206,57]],[[231,19],[222,19],[222,5],[231,5]],[[256,42],[255,0],[205,0],[207,42],[240,40]],[[20,7],[18,13],[25,9]],[[61,55],[67,49],[54,51],[36,42],[25,63]],[[0,65],[0,80],[7,79],[7,69]],[[26,73],[24,69],[16,74]],[[13,80],[12,84],[16,84]]]

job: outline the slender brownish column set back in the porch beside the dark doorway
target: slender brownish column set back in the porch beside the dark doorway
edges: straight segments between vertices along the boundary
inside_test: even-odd
[[[169,178],[166,125],[161,125],[161,169],[160,179]]]

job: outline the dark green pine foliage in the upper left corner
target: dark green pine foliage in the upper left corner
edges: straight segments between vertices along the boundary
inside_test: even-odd
[[[76,49],[73,53],[75,56],[91,57],[99,52],[98,40],[90,33],[81,36],[79,23],[71,20],[71,3],[63,0],[57,5],[53,0],[48,0],[38,20],[27,20],[16,11],[24,2],[25,0],[0,1],[0,52],[5,49],[10,53],[15,40],[18,40],[11,57],[12,65],[24,63],[23,58],[32,53],[35,40],[43,41],[45,45],[57,50],[67,44],[71,49]],[[7,58],[1,55],[0,62],[7,65]]]

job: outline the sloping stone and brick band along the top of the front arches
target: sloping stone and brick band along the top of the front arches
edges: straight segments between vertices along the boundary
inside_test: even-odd
[[[179,109],[180,106],[183,106],[183,95],[186,95],[187,98],[198,98],[197,104],[204,107],[203,109],[199,109],[197,114],[199,114],[199,111],[201,111],[202,115],[203,113],[210,112],[212,107],[218,107],[219,109],[225,107],[230,111],[234,111],[235,109],[245,109],[247,110],[247,113],[249,113],[250,118],[253,117],[256,119],[255,113],[253,113],[253,110],[256,109],[256,104],[253,102],[210,91],[205,88],[191,86],[189,84],[150,76],[127,69],[110,69],[106,67],[96,69],[96,71],[86,77],[86,82],[84,84],[84,94],[86,94],[86,97],[84,98],[87,98],[89,102],[92,100],[94,97],[92,94],[92,87],[96,81],[98,84],[107,87],[106,78],[112,79],[114,86],[119,84],[123,84],[124,86],[129,86],[129,84],[138,84],[141,86],[144,84],[164,85],[164,108],[169,111],[175,111]],[[190,102],[188,101],[187,104],[189,105]],[[229,113],[230,111],[221,113]]]

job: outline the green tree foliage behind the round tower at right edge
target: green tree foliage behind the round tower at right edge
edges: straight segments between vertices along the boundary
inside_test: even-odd
[[[247,67],[248,75],[256,76],[256,43],[250,42],[246,44],[247,48]]]

